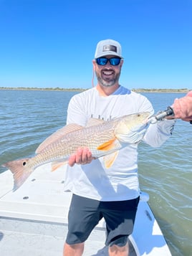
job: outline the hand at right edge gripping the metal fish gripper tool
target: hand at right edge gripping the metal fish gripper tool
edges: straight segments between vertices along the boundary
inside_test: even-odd
[[[185,121],[192,120],[192,91],[185,97],[174,100],[172,107],[174,118],[181,118]]]

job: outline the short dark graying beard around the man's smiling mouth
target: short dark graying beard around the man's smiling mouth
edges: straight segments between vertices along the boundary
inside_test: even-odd
[[[102,72],[105,70],[100,70],[100,72],[98,72],[97,70],[95,70],[95,74],[97,77],[97,81],[99,82],[100,85],[104,86],[104,87],[110,87],[112,85],[115,85],[120,78],[120,72],[116,73],[114,72],[114,70],[112,70],[112,72],[114,72],[114,75],[109,76],[109,77],[103,77],[102,76]],[[106,70],[107,72],[110,70]]]

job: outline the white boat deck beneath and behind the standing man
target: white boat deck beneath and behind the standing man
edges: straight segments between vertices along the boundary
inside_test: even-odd
[[[10,171],[0,174],[0,255],[59,256],[67,234],[70,193],[63,191],[64,170],[38,168],[12,192]],[[130,236],[131,256],[170,256],[158,223],[141,196],[135,228]],[[95,227],[85,243],[85,256],[105,256],[105,222]]]

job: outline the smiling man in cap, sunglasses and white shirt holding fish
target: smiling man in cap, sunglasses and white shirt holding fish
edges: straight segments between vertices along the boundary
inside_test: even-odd
[[[67,123],[86,125],[90,118],[110,120],[143,111],[153,114],[147,98],[119,84],[123,56],[118,42],[100,41],[92,64],[97,86],[70,100]],[[153,147],[162,145],[171,136],[175,121],[149,125],[143,141]],[[82,255],[85,240],[102,217],[109,255],[128,255],[128,235],[133,231],[140,194],[137,148],[138,144],[130,144],[121,149],[109,169],[102,158],[92,158],[89,148],[79,148],[69,158],[64,186],[73,195],[64,256]]]

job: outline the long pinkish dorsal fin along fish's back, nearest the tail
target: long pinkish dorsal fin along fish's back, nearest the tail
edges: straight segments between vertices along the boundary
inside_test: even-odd
[[[47,146],[51,145],[52,143],[56,142],[57,140],[61,139],[62,137],[66,136],[67,133],[72,133],[73,131],[77,131],[82,129],[83,126],[77,125],[75,123],[71,123],[69,125],[65,125],[63,128],[59,129],[58,131],[52,133],[51,136],[46,138],[37,148],[35,153],[41,153],[44,151]]]

